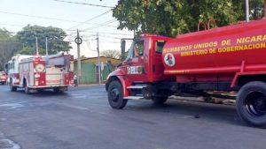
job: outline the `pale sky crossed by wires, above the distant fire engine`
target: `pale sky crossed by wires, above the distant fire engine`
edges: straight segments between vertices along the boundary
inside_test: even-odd
[[[79,29],[83,39],[81,56],[94,57],[98,56],[97,33],[100,51],[120,50],[121,38],[133,38],[132,31],[117,29],[119,22],[113,18],[111,8],[87,5],[114,7],[117,2],[118,0],[0,0],[0,28],[6,28],[13,34],[28,24],[62,28],[68,34],[65,40],[71,41],[73,49],[70,53],[74,57],[77,56],[74,38],[76,29]]]

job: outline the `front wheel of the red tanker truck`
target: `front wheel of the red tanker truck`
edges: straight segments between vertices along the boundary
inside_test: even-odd
[[[108,86],[109,105],[115,109],[124,108],[128,100],[123,99],[123,90],[119,81],[112,81]]]

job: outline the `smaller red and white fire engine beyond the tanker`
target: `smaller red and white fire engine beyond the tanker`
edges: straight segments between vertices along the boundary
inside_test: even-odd
[[[35,93],[42,89],[64,92],[71,86],[74,65],[73,56],[58,54],[53,56],[13,56],[7,64],[10,90],[25,88],[25,93]]]

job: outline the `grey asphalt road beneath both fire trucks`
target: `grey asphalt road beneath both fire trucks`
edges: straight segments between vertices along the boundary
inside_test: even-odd
[[[195,118],[194,115],[200,115]],[[1,149],[265,149],[234,106],[169,100],[109,107],[104,86],[12,93],[0,86]]]

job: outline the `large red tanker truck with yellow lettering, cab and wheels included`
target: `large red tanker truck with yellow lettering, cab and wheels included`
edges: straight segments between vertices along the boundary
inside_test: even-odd
[[[237,91],[239,116],[248,124],[265,126],[266,20],[176,38],[143,34],[109,75],[106,91],[110,106],[118,109],[129,99],[164,103],[173,94]]]

